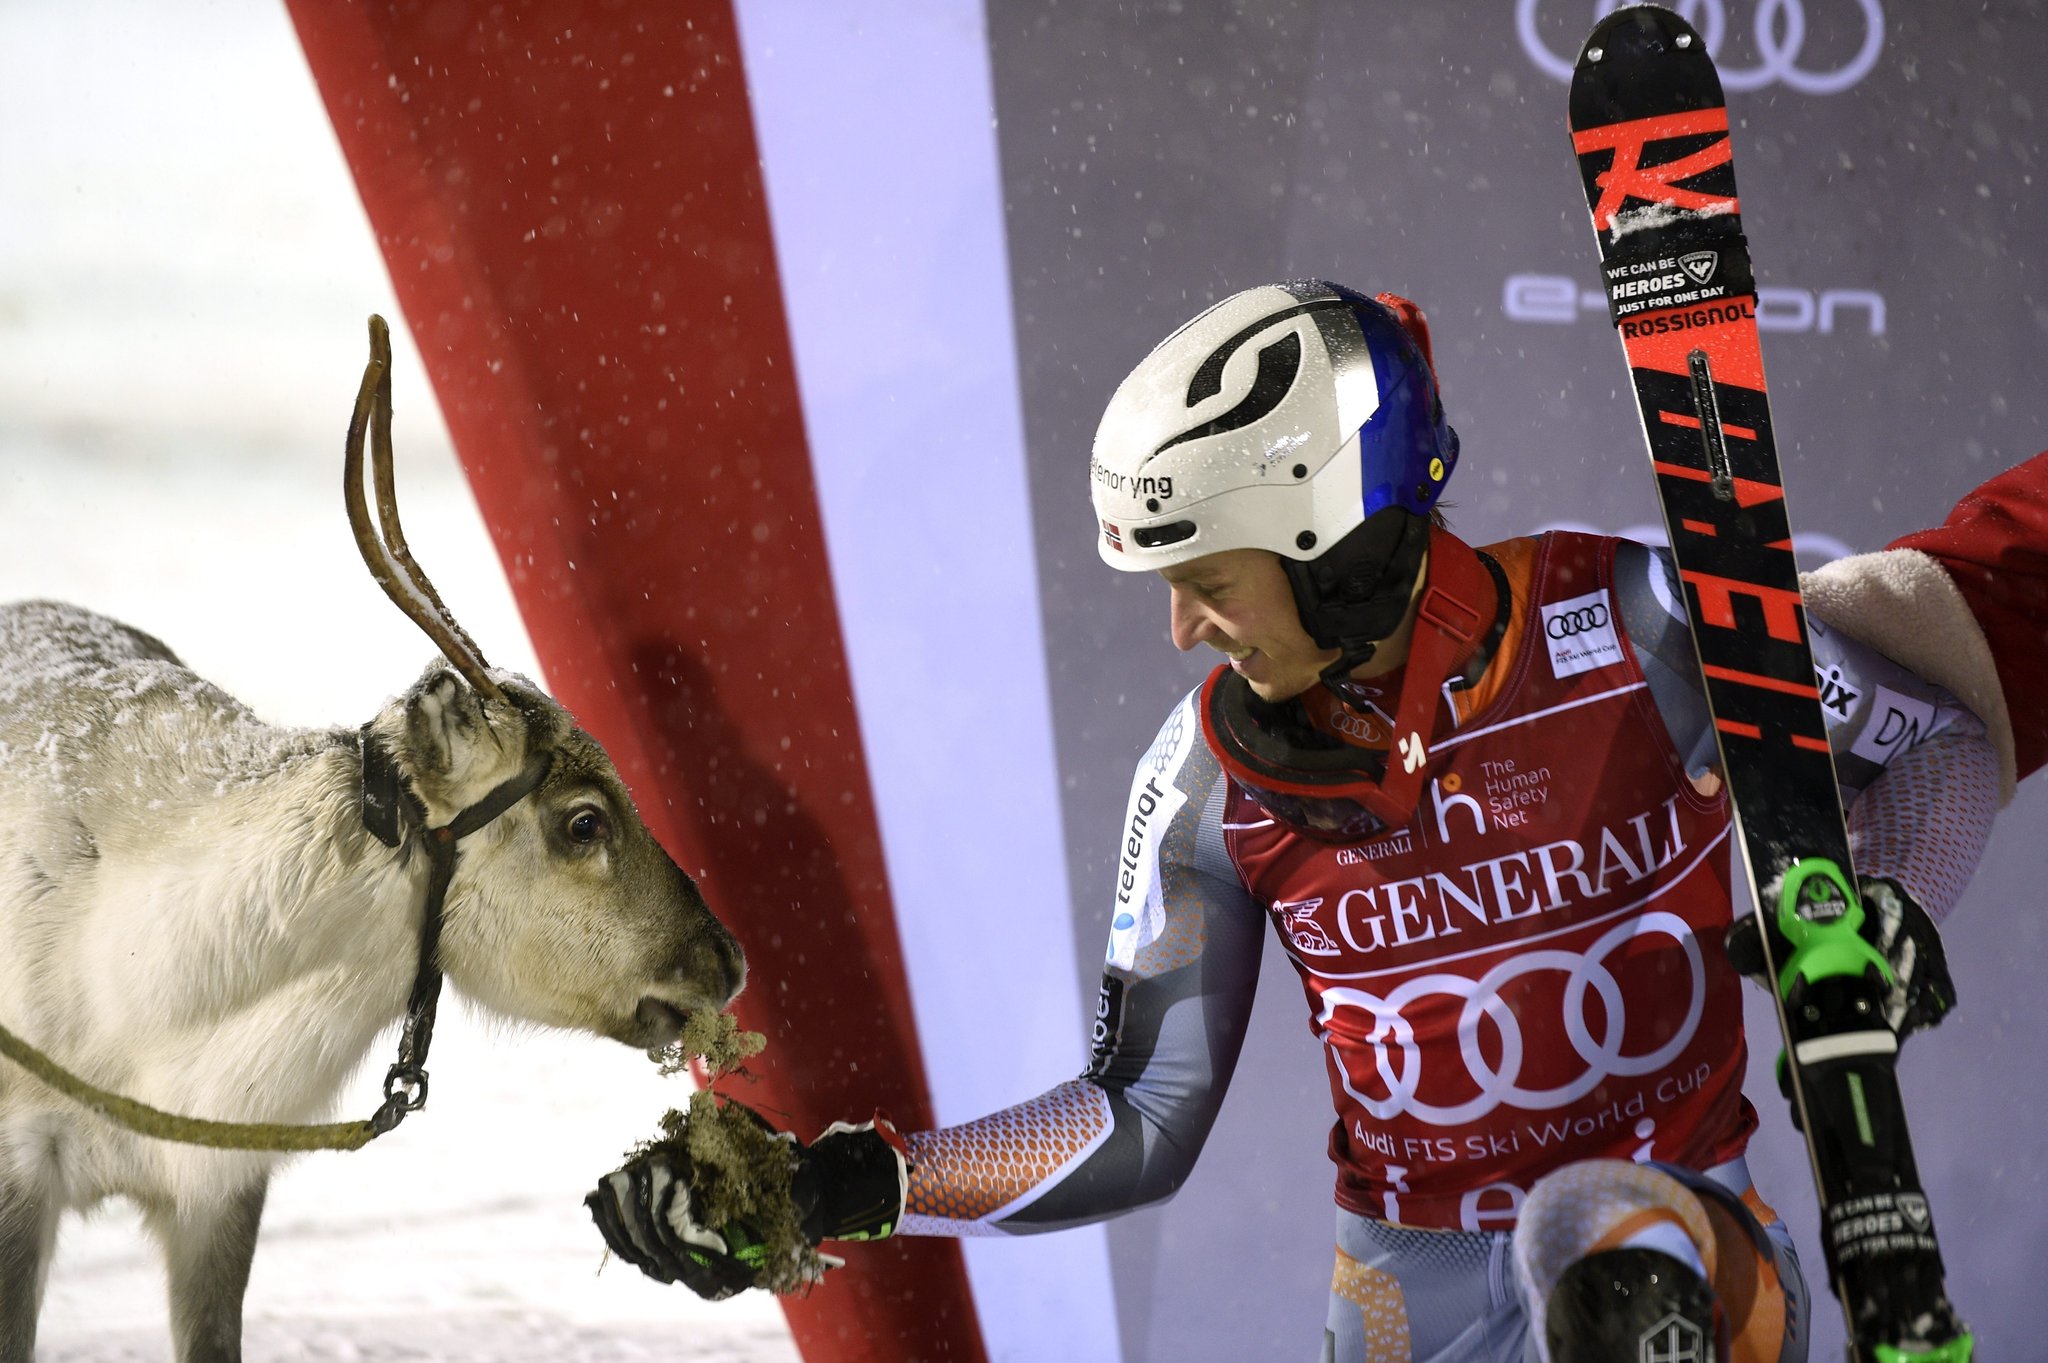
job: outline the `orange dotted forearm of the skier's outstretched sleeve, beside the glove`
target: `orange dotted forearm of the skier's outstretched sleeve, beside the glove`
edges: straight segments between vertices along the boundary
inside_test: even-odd
[[[1004,1111],[909,1132],[909,1195],[901,1234],[1004,1234],[991,1218],[1032,1201],[1110,1134],[1110,1097],[1073,1079]]]

